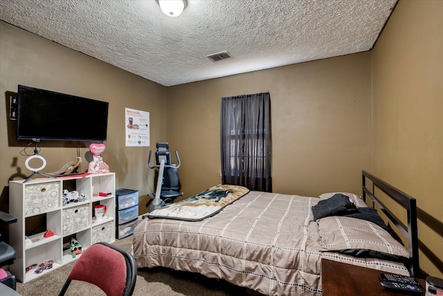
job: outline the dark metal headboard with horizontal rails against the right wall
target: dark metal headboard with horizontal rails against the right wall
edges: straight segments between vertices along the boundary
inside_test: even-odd
[[[418,277],[420,268],[419,268],[419,259],[418,259],[418,234],[417,234],[417,202],[415,198],[410,195],[400,191],[394,186],[380,180],[378,177],[368,173],[367,171],[361,172],[361,179],[363,184],[363,200],[366,201],[366,195],[368,195],[374,206],[377,204],[377,207],[383,211],[383,213],[388,217],[390,221],[399,229],[401,234],[403,234],[408,240],[408,249],[409,249],[409,259],[407,263],[407,268],[412,277]],[[366,187],[366,180],[370,180],[372,182],[372,190],[369,190]],[[374,189],[380,189],[383,193],[386,193],[392,200],[395,200],[398,204],[401,205],[404,209],[406,209],[408,214],[408,225],[404,225],[404,223],[399,220],[392,212],[386,208],[386,206],[375,196]]]

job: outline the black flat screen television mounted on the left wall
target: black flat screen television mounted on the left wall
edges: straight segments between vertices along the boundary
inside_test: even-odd
[[[17,139],[106,141],[108,102],[18,86]]]

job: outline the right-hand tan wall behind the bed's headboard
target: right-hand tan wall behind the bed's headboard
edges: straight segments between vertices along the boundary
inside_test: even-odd
[[[443,1],[400,0],[372,51],[374,173],[417,198],[420,267],[443,267]],[[440,263],[438,263],[440,261]]]

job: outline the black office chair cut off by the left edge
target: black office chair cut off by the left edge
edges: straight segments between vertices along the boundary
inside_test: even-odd
[[[17,217],[14,217],[4,211],[0,211],[0,223],[3,225],[9,225],[17,222]],[[15,250],[8,245],[6,242],[1,241],[0,234],[0,268],[5,265],[11,265],[15,262],[17,254]],[[3,273],[3,272],[2,272]],[[15,275],[11,275],[10,272],[6,272],[6,277],[0,279],[0,283],[9,286],[10,288],[15,290],[16,287],[16,279]]]

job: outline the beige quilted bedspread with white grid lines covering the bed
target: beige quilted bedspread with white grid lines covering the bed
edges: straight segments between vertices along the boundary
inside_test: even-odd
[[[199,272],[264,295],[322,295],[321,258],[408,275],[401,263],[322,252],[318,201],[250,191],[200,222],[145,218],[134,229],[137,267]]]

